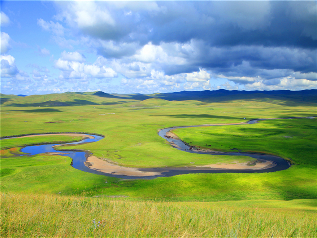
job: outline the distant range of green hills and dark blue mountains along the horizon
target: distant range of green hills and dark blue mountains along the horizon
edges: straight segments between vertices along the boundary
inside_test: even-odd
[[[275,103],[316,103],[317,90],[278,90],[278,91],[238,91],[238,90],[205,90],[181,91],[154,94],[108,94],[97,92],[66,92],[46,95],[4,95],[1,94],[2,106],[16,107],[61,107],[73,105],[111,105],[122,103],[139,103],[147,99],[163,99],[166,101],[196,100],[200,102],[228,102],[231,100],[260,100]],[[165,101],[165,102],[166,102]],[[156,102],[157,101],[150,101]],[[149,101],[145,102],[146,104]],[[162,101],[160,102],[162,103]],[[141,103],[142,104],[142,103]]]

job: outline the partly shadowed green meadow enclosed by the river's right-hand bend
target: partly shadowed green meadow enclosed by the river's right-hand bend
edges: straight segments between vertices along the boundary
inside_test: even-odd
[[[173,132],[185,142],[194,141],[197,147],[273,154],[295,164],[316,167],[316,118],[265,120],[249,125],[185,128]]]

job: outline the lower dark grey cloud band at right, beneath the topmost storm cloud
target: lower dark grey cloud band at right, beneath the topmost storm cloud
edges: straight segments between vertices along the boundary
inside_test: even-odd
[[[162,67],[165,73],[172,75],[198,67],[210,69],[214,73],[231,71],[240,76],[257,76],[258,69],[316,72],[316,50],[243,45],[220,48],[209,47],[204,42],[195,42],[193,49],[195,54],[187,58],[187,70],[184,65],[166,65]],[[246,68],[244,62],[248,62],[249,67]]]

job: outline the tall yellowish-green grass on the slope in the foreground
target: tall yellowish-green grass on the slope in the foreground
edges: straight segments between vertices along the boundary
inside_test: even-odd
[[[1,237],[316,237],[316,211],[1,193]]]

